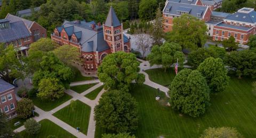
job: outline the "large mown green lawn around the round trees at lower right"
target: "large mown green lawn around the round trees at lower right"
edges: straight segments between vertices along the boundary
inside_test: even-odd
[[[169,80],[172,80],[171,78]],[[163,81],[162,81],[163,82]],[[179,116],[178,111],[167,107],[162,93],[156,101],[156,89],[137,85],[132,96],[138,101],[139,126],[137,137],[199,137],[208,127],[236,127],[245,137],[256,136],[256,97],[251,92],[251,79],[238,80],[231,77],[227,89],[211,94],[211,106],[198,118]],[[97,127],[95,137],[105,131]]]

